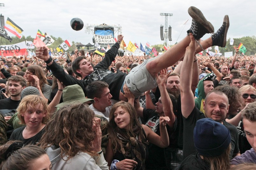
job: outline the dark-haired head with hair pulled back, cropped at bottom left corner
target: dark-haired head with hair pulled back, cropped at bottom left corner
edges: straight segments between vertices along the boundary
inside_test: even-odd
[[[20,141],[9,141],[0,147],[1,170],[51,170],[52,164],[45,150]]]

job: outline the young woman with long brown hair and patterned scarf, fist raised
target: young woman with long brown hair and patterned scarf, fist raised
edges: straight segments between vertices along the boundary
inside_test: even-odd
[[[124,101],[113,105],[108,123],[109,141],[106,160],[111,169],[145,169],[147,158],[147,143],[158,147],[169,146],[166,123],[168,116],[159,118],[160,134],[154,133],[146,125],[140,124],[135,108]]]

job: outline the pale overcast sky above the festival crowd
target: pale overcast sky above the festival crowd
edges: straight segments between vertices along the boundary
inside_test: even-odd
[[[83,44],[92,43],[93,35],[85,33],[85,28],[74,31],[70,26],[72,18],[81,18],[85,25],[120,24],[127,44],[129,41],[142,45],[147,41],[152,45],[163,44],[160,25],[165,24],[165,17],[160,13],[173,14],[168,17],[168,27],[172,27],[171,44],[175,44],[190,28],[191,17],[187,12],[190,6],[200,9],[215,31],[222,25],[223,17],[229,15],[227,38],[256,35],[255,0],[2,0],[0,3],[5,4],[0,10],[5,21],[9,17],[24,30],[24,36],[35,37],[39,29],[54,37]],[[187,19],[183,29],[180,25]],[[209,36],[207,34],[202,39]]]

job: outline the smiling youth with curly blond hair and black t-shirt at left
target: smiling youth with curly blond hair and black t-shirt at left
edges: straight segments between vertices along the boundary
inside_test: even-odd
[[[28,95],[21,100],[17,112],[20,122],[26,126],[15,129],[10,140],[22,141],[24,145],[37,144],[50,117],[47,102],[38,95]]]

